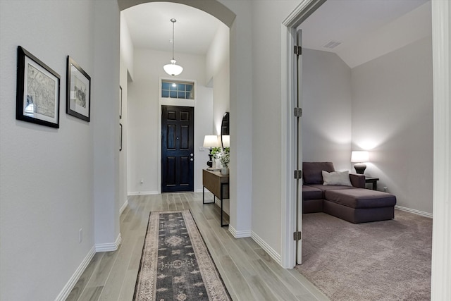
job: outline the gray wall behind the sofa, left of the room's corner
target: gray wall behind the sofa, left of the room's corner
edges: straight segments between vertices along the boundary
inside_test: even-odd
[[[355,173],[351,69],[336,54],[302,50],[302,161],[330,161],[337,171]]]

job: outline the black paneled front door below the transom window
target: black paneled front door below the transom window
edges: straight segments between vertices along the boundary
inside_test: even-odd
[[[194,190],[194,108],[161,106],[161,192]]]

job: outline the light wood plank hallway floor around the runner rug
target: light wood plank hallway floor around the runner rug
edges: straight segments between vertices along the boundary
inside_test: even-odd
[[[206,193],[206,202],[213,199]],[[122,242],[94,255],[66,300],[132,300],[150,211],[190,209],[233,300],[328,300],[295,269],[283,269],[252,238],[233,238],[219,209],[202,193],[129,197],[121,214]]]

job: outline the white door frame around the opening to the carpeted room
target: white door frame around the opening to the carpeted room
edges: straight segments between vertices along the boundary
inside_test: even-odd
[[[325,0],[324,0],[325,1]],[[293,219],[292,192],[292,111],[293,73],[290,50],[294,47],[293,28],[321,6],[323,0],[302,0],[282,25],[282,251],[281,264],[286,268],[295,265],[295,243],[292,240],[295,221]],[[448,273],[451,268],[451,4],[449,1],[431,0],[432,6],[432,51],[433,51],[433,243],[431,270],[431,300],[446,300],[450,297]],[[288,99],[285,102],[285,99]],[[285,137],[286,136],[286,137]],[[290,138],[290,139],[289,139]],[[290,211],[291,210],[291,211]]]

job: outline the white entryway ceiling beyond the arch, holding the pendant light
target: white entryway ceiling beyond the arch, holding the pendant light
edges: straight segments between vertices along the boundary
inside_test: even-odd
[[[221,23],[215,17],[184,4],[152,2],[123,11],[134,47],[172,51],[175,18],[175,54],[206,54]]]

